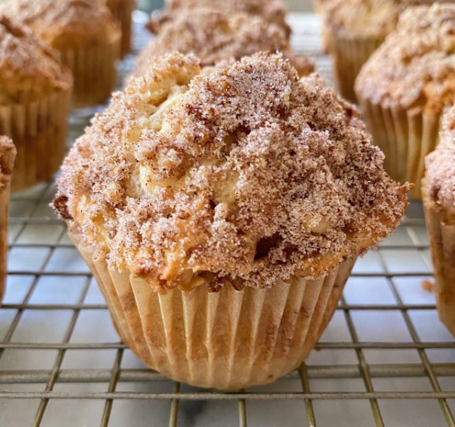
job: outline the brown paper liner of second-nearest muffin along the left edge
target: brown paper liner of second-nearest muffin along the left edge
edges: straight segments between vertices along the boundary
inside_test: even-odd
[[[59,170],[66,149],[71,89],[29,104],[0,106],[0,135],[17,149],[11,190],[45,182]]]

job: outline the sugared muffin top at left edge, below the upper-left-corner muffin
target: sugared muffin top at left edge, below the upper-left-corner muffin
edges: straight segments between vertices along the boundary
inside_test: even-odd
[[[67,90],[69,69],[28,28],[0,16],[0,105],[28,103]]]

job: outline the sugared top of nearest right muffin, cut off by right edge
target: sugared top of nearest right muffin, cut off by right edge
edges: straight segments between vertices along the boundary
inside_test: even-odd
[[[436,150],[427,155],[427,185],[430,197],[455,223],[455,106],[445,113]]]

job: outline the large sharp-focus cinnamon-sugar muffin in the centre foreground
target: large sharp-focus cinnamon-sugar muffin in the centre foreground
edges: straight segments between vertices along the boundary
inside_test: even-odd
[[[308,355],[406,190],[355,107],[281,54],[201,73],[156,59],[65,160],[54,207],[123,341],[195,386],[272,382]]]

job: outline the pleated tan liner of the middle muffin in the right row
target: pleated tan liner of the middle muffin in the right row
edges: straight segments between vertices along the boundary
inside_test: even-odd
[[[385,170],[399,182],[412,182],[414,199],[421,199],[425,157],[438,144],[441,115],[420,108],[382,107],[357,94],[373,142],[385,154]]]

